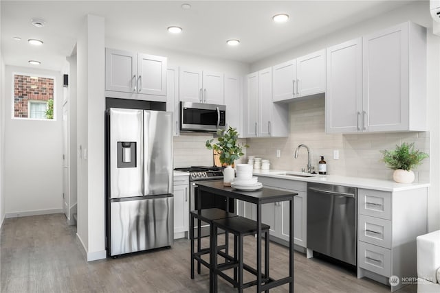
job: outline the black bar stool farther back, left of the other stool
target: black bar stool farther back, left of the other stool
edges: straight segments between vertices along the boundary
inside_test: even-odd
[[[190,212],[190,241],[191,241],[191,279],[194,279],[194,261],[197,261],[197,274],[200,274],[201,264],[206,266],[206,268],[211,269],[210,262],[205,261],[201,258],[202,255],[206,255],[210,253],[210,249],[212,248],[211,244],[209,248],[201,248],[201,221],[206,222],[210,225],[210,241],[212,239],[212,221],[223,219],[223,218],[233,218],[236,217],[234,213],[229,213],[227,211],[223,211],[223,209],[201,209]],[[197,251],[194,250],[194,220],[198,220],[198,230],[197,230]],[[221,253],[220,255],[228,255],[228,233],[225,233],[225,245],[219,246],[219,250],[225,250],[225,253]],[[225,257],[226,259],[226,257]]]

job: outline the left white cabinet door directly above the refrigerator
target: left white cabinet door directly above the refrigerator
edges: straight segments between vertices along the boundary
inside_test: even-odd
[[[136,93],[137,57],[135,53],[105,49],[105,89]]]

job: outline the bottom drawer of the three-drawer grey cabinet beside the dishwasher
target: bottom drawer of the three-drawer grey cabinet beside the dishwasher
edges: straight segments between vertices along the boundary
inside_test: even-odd
[[[384,277],[391,276],[391,250],[360,241],[358,265]]]

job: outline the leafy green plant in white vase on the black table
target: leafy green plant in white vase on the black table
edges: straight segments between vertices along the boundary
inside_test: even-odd
[[[205,143],[208,150],[215,150],[220,154],[220,163],[226,165],[223,169],[223,184],[230,186],[234,180],[235,172],[232,169],[232,164],[235,160],[243,156],[243,148],[248,148],[248,145],[243,145],[237,140],[239,139],[239,132],[236,128],[229,127],[228,130],[217,130],[217,143],[212,143],[214,139],[208,139]]]

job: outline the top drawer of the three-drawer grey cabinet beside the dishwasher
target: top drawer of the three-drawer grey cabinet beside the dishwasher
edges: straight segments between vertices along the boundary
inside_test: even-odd
[[[391,220],[391,192],[358,189],[360,215]]]

